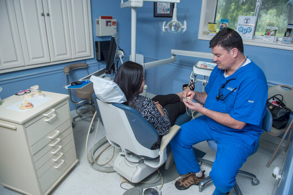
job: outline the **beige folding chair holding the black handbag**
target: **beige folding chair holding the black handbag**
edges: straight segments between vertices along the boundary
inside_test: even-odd
[[[286,89],[287,88],[287,89]],[[290,87],[290,86],[287,86],[287,85],[274,85],[272,87],[270,87],[268,89],[268,97],[272,97],[273,95],[276,95],[276,94],[281,94],[283,95],[283,103],[289,107],[291,110],[293,110],[293,88]],[[265,132],[271,136],[277,136],[279,138],[281,138],[281,141],[280,143],[278,144],[277,148],[274,149],[264,143],[265,146],[268,146],[269,148],[275,150],[274,154],[272,155],[272,157],[270,158],[268,164],[267,164],[267,167],[270,166],[270,164],[272,163],[272,160],[274,159],[275,155],[277,154],[277,151],[279,150],[280,146],[282,145],[283,141],[286,140],[287,143],[286,143],[286,146],[285,146],[285,152],[287,152],[288,150],[288,147],[289,147],[289,142],[290,142],[290,138],[291,138],[291,135],[292,135],[292,127],[293,127],[293,120],[292,120],[292,116],[293,116],[293,112],[291,112],[290,114],[290,119],[291,119],[291,122],[290,122],[290,119],[289,119],[289,122],[287,123],[286,127],[283,128],[283,129],[276,129],[275,127],[272,127],[272,130],[270,132]],[[289,132],[289,136],[288,136],[288,139],[285,139],[286,135],[288,134]],[[284,134],[282,137],[280,137],[282,134]]]

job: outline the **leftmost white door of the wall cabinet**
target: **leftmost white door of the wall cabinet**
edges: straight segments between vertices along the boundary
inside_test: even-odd
[[[24,66],[13,1],[0,1],[0,69]]]

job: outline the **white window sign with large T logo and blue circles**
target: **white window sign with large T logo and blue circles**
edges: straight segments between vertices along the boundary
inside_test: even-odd
[[[239,16],[236,31],[242,39],[252,39],[256,16]]]

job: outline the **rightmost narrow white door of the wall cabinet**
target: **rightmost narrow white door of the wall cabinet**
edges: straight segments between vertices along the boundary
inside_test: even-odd
[[[67,6],[73,58],[93,55],[90,0],[67,0]]]

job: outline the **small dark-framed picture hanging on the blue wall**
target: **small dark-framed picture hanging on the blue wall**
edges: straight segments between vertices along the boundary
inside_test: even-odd
[[[167,17],[173,16],[174,3],[154,2],[154,17]]]

